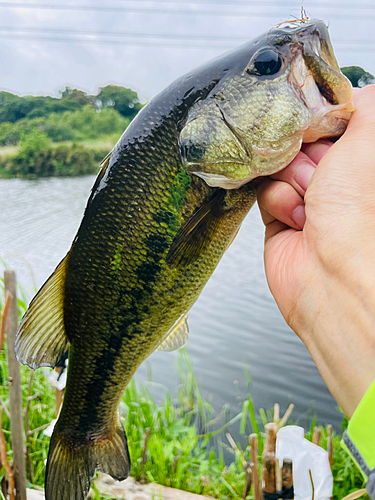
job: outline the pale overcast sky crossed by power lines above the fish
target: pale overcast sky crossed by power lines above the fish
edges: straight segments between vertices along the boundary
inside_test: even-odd
[[[304,0],[304,7],[329,24],[340,66],[375,74],[374,0]],[[146,100],[300,8],[290,0],[0,1],[0,89],[97,93],[114,83]]]

